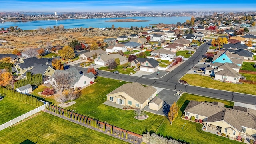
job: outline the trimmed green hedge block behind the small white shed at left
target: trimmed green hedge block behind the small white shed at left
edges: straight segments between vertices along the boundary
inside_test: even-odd
[[[29,73],[29,72],[28,72]],[[30,75],[28,74],[27,75]],[[42,74],[34,74],[32,77],[28,77],[27,79],[21,79],[14,83],[14,89],[19,88],[21,86],[25,86],[27,84],[31,85],[40,85],[43,82]]]

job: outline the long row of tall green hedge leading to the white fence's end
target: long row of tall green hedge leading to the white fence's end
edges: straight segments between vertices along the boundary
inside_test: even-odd
[[[10,90],[10,89],[4,88],[2,86],[0,86],[0,94],[4,94],[8,97],[15,98],[17,100],[20,100],[22,102],[26,102],[28,104],[32,104],[34,106],[42,106],[44,104],[44,102],[38,100],[35,97],[28,96],[26,94],[16,92],[14,90]]]

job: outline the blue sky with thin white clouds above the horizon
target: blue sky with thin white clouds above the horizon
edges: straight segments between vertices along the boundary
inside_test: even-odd
[[[255,0],[0,0],[0,12],[250,11]]]

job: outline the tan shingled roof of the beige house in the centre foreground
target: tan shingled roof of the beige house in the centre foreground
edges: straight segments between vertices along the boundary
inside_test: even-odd
[[[139,84],[138,82],[135,82],[135,83],[123,84],[122,86],[116,88],[109,94],[124,92],[124,93],[128,94],[130,97],[132,97],[134,100],[140,102],[140,104],[143,104],[156,91],[157,90],[153,86],[144,87],[141,84]],[[107,94],[107,95],[109,95],[109,94]]]

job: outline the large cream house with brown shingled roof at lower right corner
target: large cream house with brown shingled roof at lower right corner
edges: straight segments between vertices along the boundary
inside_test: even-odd
[[[220,102],[190,101],[184,110],[188,118],[194,116],[203,120],[204,127],[210,130],[218,130],[220,133],[236,138],[240,135],[256,136],[256,110],[234,106],[224,107]]]

